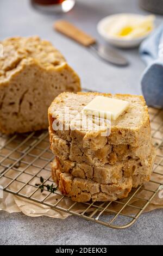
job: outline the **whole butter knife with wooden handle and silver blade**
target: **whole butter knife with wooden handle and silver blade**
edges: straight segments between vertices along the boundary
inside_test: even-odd
[[[90,48],[90,50],[92,50],[98,55],[98,57],[102,58],[106,62],[120,66],[128,65],[128,60],[124,58],[117,50],[110,46],[99,45],[95,38],[87,35],[70,22],[59,20],[54,23],[54,29],[79,42],[79,44]]]

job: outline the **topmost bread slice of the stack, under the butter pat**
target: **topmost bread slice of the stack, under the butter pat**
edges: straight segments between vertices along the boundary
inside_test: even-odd
[[[107,131],[107,123],[99,125],[99,119],[93,121],[93,129],[90,125],[82,124],[82,110],[97,95],[126,100],[128,109],[111,121],[111,133],[102,136]],[[66,109],[65,109],[66,107]],[[151,127],[146,102],[143,96],[105,94],[105,93],[62,93],[57,96],[48,109],[49,126],[53,131],[53,121],[58,124],[55,133],[66,141],[76,141],[83,148],[92,150],[102,149],[106,144],[129,144],[138,147],[145,141],[151,140]],[[92,121],[87,117],[87,122]],[[82,126],[82,125],[83,126]],[[82,126],[82,129],[81,129]]]

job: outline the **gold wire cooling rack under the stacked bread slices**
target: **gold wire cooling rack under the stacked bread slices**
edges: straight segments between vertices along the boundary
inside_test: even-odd
[[[51,161],[54,156],[49,150],[47,131],[22,135],[0,134],[0,185],[3,190],[16,196],[32,200],[52,209],[64,211],[110,228],[123,229],[133,224],[160,190],[163,179],[163,111],[149,108],[152,137],[157,156],[151,181],[132,190],[129,197],[116,202],[77,203],[62,196],[40,192],[35,184],[43,176],[43,184],[52,184]],[[143,195],[143,196],[142,196]],[[146,196],[144,196],[146,195]],[[68,200],[68,206],[63,206]],[[82,210],[77,211],[78,208]],[[130,214],[128,214],[130,212]],[[106,215],[107,214],[107,215]]]

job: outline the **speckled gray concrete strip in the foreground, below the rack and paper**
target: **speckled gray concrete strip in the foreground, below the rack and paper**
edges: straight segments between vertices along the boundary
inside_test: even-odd
[[[163,243],[162,210],[143,214],[130,228],[109,229],[71,216],[66,220],[31,218],[1,212],[3,245],[160,245]]]

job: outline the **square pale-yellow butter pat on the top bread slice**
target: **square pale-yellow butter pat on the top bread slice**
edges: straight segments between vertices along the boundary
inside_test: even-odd
[[[129,102],[125,100],[97,96],[83,108],[83,111],[96,117],[116,120],[128,106]]]

